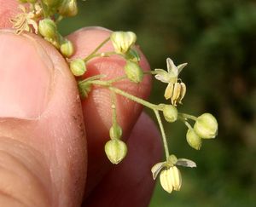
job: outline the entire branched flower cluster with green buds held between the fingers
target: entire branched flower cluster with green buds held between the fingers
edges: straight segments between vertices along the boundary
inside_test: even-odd
[[[218,133],[218,123],[216,118],[210,113],[203,113],[199,117],[195,117],[186,113],[178,112],[177,105],[182,104],[183,98],[186,94],[186,85],[182,82],[178,75],[182,72],[187,63],[175,66],[170,58],[167,58],[167,71],[163,69],[155,69],[151,72],[143,72],[139,66],[140,55],[137,51],[135,43],[137,36],[134,32],[112,32],[110,37],[104,40],[96,47],[96,49],[84,59],[69,60],[74,53],[73,43],[67,38],[62,37],[58,32],[57,25],[63,17],[70,17],[78,14],[78,5],[76,0],[18,0],[20,3],[20,14],[17,14],[11,22],[15,28],[15,32],[20,34],[22,32],[33,32],[46,41],[55,46],[61,55],[67,60],[71,72],[75,77],[81,77],[87,71],[87,64],[90,60],[97,57],[109,57],[111,55],[119,55],[125,60],[125,76],[114,78],[110,80],[102,80],[102,75],[92,76],[84,80],[78,81],[80,96],[82,99],[86,98],[90,93],[93,85],[98,85],[109,89],[112,97],[111,109],[113,112],[113,124],[109,129],[110,140],[105,145],[105,152],[108,159],[113,164],[119,164],[127,153],[127,147],[122,141],[122,128],[117,121],[116,112],[116,95],[125,96],[131,101],[146,106],[154,111],[157,122],[160,126],[163,146],[165,149],[166,159],[163,162],[154,164],[151,171],[153,179],[156,179],[160,173],[160,184],[168,193],[173,190],[179,191],[182,184],[182,177],[177,166],[196,167],[196,164],[185,158],[176,158],[175,155],[169,152],[167,144],[165,129],[162,124],[160,113],[167,122],[173,123],[177,120],[182,121],[188,128],[186,139],[190,147],[196,150],[201,148],[201,142],[204,139],[215,138]],[[99,49],[106,43],[113,44],[113,51],[99,53]],[[128,79],[132,83],[141,83],[145,75],[153,75],[154,78],[160,82],[167,83],[164,96],[169,102],[168,104],[153,104],[135,95],[131,95],[124,90],[114,87],[113,83]],[[195,122],[193,127],[191,121]]]

